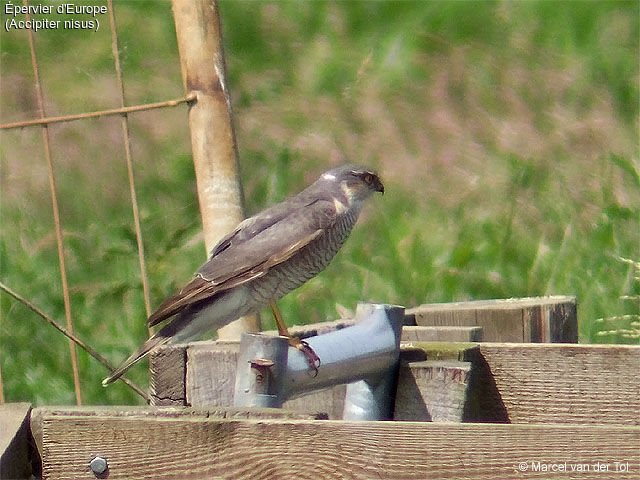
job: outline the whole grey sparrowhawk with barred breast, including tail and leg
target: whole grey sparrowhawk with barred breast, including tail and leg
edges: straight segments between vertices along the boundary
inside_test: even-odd
[[[258,312],[316,276],[347,239],[364,201],[374,192],[384,193],[374,171],[344,165],[325,172],[297,195],[242,221],[214,247],[194,279],[162,303],[148,323],[153,326],[171,320],[102,384],[118,379],[159,346],[196,338]],[[279,315],[276,322],[280,334],[291,338]],[[300,340],[290,343],[305,352]],[[305,353],[310,359],[315,355]]]

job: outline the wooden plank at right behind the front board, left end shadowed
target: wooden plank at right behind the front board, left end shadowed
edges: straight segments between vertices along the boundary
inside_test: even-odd
[[[640,425],[640,346],[479,344],[466,358],[512,423]]]

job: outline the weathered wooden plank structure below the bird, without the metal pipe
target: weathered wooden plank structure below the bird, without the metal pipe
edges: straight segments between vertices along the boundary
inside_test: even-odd
[[[454,326],[411,325],[463,311]],[[41,459],[47,479],[639,478],[640,346],[568,343],[575,312],[571,297],[407,310],[392,422],[337,420],[344,386],[233,408],[237,343],[165,348],[151,360],[156,406],[3,407],[14,435],[0,471]],[[500,338],[515,331],[563,343]]]

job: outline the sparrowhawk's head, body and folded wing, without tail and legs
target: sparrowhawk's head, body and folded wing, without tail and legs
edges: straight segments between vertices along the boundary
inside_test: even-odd
[[[149,324],[239,285],[255,288],[260,299],[282,297],[327,266],[353,228],[361,201],[373,191],[384,191],[374,172],[341,166],[244,220],[216,245],[196,278],[149,317]]]

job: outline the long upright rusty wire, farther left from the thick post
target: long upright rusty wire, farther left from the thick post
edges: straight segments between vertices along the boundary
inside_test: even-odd
[[[25,7],[29,6],[28,0],[22,0]],[[26,20],[30,21],[30,15],[26,12]],[[45,118],[44,102],[42,101],[42,88],[40,87],[40,76],[38,74],[38,59],[36,57],[36,49],[33,41],[33,31],[27,29],[29,36],[29,49],[31,50],[31,66],[33,69],[33,78],[35,84],[36,101],[38,103],[38,112],[40,118]],[[60,223],[60,210],[58,208],[58,198],[56,194],[56,183],[53,171],[53,162],[51,160],[51,148],[49,145],[49,128],[46,124],[42,125],[42,141],[44,143],[44,156],[49,171],[49,189],[51,190],[51,204],[53,207],[53,219],[56,230],[56,244],[58,246],[58,263],[60,265],[60,278],[62,280],[62,297],[64,300],[64,314],[67,320],[67,329],[73,333],[73,321],[71,319],[71,301],[69,298],[69,284],[67,282],[67,270],[64,263],[64,245],[62,239],[62,226]],[[71,368],[73,370],[73,386],[76,394],[76,404],[82,405],[82,394],[80,392],[80,374],[78,372],[78,358],[76,356],[76,346],[73,341],[69,340],[69,352],[71,354]]]

